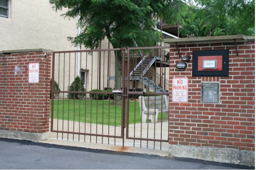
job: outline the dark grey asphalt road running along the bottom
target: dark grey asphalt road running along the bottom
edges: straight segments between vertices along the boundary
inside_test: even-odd
[[[254,167],[0,138],[0,169],[254,169]]]

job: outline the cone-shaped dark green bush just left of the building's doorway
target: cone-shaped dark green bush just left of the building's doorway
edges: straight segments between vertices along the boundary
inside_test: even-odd
[[[83,81],[77,76],[75,80],[71,83],[69,91],[85,91]],[[69,93],[69,99],[81,99],[84,98],[85,94],[78,94],[78,93]]]

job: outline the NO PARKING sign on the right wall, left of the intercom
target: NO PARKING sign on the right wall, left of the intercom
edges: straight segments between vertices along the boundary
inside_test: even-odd
[[[173,78],[172,101],[174,103],[188,102],[188,78]]]

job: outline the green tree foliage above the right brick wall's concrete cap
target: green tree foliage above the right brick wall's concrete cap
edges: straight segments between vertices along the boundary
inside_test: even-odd
[[[186,36],[254,35],[255,0],[195,0],[183,18]]]

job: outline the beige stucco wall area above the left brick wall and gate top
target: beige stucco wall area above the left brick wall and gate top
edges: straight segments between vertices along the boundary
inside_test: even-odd
[[[0,17],[0,51],[75,50],[67,37],[77,34],[77,19],[64,19],[62,13],[53,11],[48,0],[10,0],[9,17]]]

